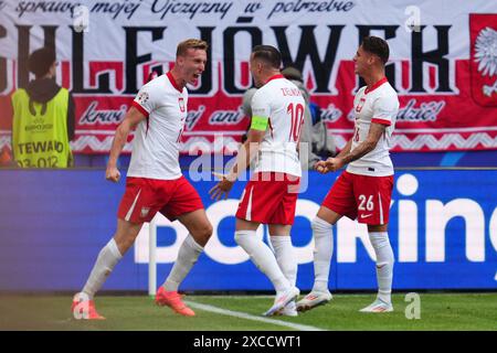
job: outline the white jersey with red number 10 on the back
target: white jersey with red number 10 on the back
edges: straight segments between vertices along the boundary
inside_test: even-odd
[[[252,98],[252,116],[269,119],[254,172],[302,176],[297,143],[304,124],[300,89],[283,75],[271,77]]]

